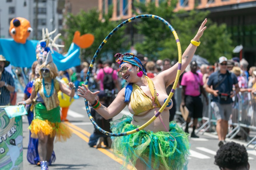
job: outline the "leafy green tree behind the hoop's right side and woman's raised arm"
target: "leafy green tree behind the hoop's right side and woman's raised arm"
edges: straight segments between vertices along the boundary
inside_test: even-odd
[[[200,24],[207,18],[209,11],[192,10],[179,11],[174,13],[176,1],[171,1],[171,5],[167,1],[160,3],[156,7],[153,3],[143,4],[137,3],[136,6],[141,10],[142,14],[154,14],[168,21],[178,34],[182,52],[185,51],[190,44],[190,40],[196,35]],[[207,19],[207,29],[201,37],[201,44],[195,54],[206,58],[209,62],[214,63],[220,56],[231,58],[232,56],[232,40],[231,35],[227,32],[226,24],[217,25],[210,19]],[[138,52],[143,53],[151,59],[170,58],[178,60],[178,49],[175,38],[170,29],[153,19],[144,19],[135,26],[138,33],[144,35],[142,43],[135,45]]]

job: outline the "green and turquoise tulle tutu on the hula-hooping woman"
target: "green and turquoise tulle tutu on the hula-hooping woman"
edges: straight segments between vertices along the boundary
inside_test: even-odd
[[[112,133],[123,133],[139,126],[131,124],[132,118],[124,115],[111,122]],[[123,160],[123,168],[135,165],[136,161],[144,163],[147,170],[186,170],[190,144],[188,134],[175,121],[170,122],[170,133],[160,131],[153,133],[141,130],[122,137],[112,137],[113,154]],[[169,140],[169,141],[168,141]]]

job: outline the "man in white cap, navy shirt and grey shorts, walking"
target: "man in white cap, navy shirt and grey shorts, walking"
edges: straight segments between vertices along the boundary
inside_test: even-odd
[[[235,85],[234,91],[233,85]],[[226,57],[219,58],[219,71],[211,74],[205,90],[213,94],[211,106],[217,119],[218,146],[221,146],[226,143],[228,120],[232,112],[232,97],[240,90],[236,76],[227,70]]]

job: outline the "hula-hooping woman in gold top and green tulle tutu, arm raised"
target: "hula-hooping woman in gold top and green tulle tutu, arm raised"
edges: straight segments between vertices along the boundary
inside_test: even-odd
[[[126,24],[141,16],[163,21],[163,19],[155,15],[140,15],[123,23]],[[116,54],[116,62],[120,64],[118,75],[129,84],[118,93],[108,108],[101,105],[95,98],[99,91],[91,92],[87,85],[84,84],[83,87],[79,86],[78,91],[80,94],[78,95],[85,98],[89,105],[97,109],[97,112],[105,119],[113,118],[128,105],[133,117],[125,115],[122,119],[112,122],[111,127],[112,133],[122,133],[119,136],[113,135],[111,148],[113,148],[113,153],[116,156],[124,159],[125,168],[128,169],[127,165],[131,164],[137,170],[187,169],[190,148],[188,134],[175,121],[169,123],[169,109],[172,107],[172,102],[171,100],[169,102],[166,100],[167,98],[170,99],[166,94],[166,87],[176,80],[176,75],[173,73],[176,73],[177,70],[182,73],[192,60],[197,46],[200,44],[199,39],[206,30],[206,22],[207,19],[201,24],[196,36],[183,53],[182,65],[181,62],[176,63],[176,65],[152,79],[146,76],[143,64],[134,54]],[[122,26],[122,24],[120,25]],[[121,27],[120,25],[117,27],[118,29]],[[114,29],[113,31],[115,32],[116,30]],[[113,34],[113,32],[110,34]],[[176,34],[176,32],[173,34]],[[106,43],[107,40],[105,39],[104,42]],[[177,38],[176,42],[177,44],[179,43]],[[102,44],[104,45],[104,43]],[[102,44],[100,47],[103,46]],[[99,50],[96,53],[98,54]],[[167,101],[168,105],[161,111],[161,114],[158,114],[159,108],[164,105],[165,101]],[[156,116],[156,119],[141,130],[139,126],[144,125],[152,116]],[[92,121],[91,117],[90,119]],[[130,132],[130,130],[135,129],[136,133],[128,134],[127,131]],[[127,132],[127,135],[122,136],[124,132]]]

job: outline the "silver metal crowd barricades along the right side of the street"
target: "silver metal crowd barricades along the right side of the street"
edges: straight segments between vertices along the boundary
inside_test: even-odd
[[[180,112],[180,103],[181,103],[181,90],[182,86],[176,88],[174,93],[174,97],[176,99],[176,114],[181,116]],[[203,124],[198,128],[196,133],[202,132],[204,134],[209,128],[211,128],[213,122],[217,122],[214,116],[214,112],[211,106],[211,95],[207,95],[208,104],[206,103],[206,99],[203,95],[201,95],[202,103],[203,103]],[[229,139],[234,138],[239,131],[248,136],[249,130],[256,130],[256,93],[251,94],[250,92],[239,92],[238,95],[234,97],[233,109],[232,109],[232,121],[229,121],[229,125],[232,125],[234,129],[232,129],[226,137]],[[182,122],[182,126],[186,125],[186,122]],[[189,125],[192,124],[192,121]],[[254,136],[246,146],[252,144],[253,141],[256,140],[256,136]],[[254,148],[256,144],[254,145]]]

